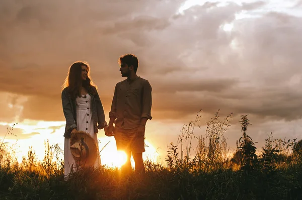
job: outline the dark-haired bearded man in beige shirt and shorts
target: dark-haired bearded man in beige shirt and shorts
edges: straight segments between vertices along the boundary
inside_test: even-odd
[[[124,81],[116,84],[109,112],[107,136],[113,136],[118,150],[127,154],[122,166],[123,172],[131,171],[131,153],[135,162],[135,172],[144,172],[142,152],[144,149],[145,125],[152,119],[152,87],[149,82],[136,75],[138,59],[132,54],[119,58],[120,72]],[[113,123],[115,126],[113,126]]]

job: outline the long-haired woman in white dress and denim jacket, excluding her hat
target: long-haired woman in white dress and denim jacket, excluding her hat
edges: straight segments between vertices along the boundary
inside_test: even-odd
[[[71,132],[85,131],[96,141],[98,146],[98,129],[107,129],[102,102],[89,76],[89,65],[86,62],[75,62],[69,67],[63,84],[62,106],[66,119],[64,141],[64,175],[75,169],[75,161],[70,152],[69,138]],[[94,166],[101,165],[100,156]]]

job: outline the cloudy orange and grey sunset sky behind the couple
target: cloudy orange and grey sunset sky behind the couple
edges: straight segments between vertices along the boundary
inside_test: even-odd
[[[77,60],[91,65],[108,122],[124,79],[117,59],[132,53],[153,87],[150,155],[164,159],[200,109],[197,136],[218,109],[222,119],[234,113],[231,150],[243,114],[259,149],[270,132],[302,139],[301,36],[302,1],[0,0],[0,138],[18,122],[7,141],[18,139],[21,154],[33,145],[43,157],[47,139],[63,147],[61,85]],[[111,141],[108,157],[114,139],[98,137],[100,147]]]

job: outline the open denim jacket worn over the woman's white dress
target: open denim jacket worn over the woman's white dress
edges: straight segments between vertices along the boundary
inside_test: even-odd
[[[89,93],[90,94],[90,93]],[[91,112],[94,123],[94,132],[98,133],[98,129],[104,128],[107,125],[102,102],[98,92],[91,96]],[[70,133],[73,128],[77,128],[77,110],[75,108],[75,100],[70,98],[68,87],[64,88],[61,94],[63,112],[66,119],[64,137],[70,138]]]

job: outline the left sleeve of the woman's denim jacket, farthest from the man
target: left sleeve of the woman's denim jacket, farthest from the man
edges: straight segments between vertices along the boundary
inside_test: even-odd
[[[73,119],[72,108],[66,90],[62,91],[61,98],[62,98],[62,107],[66,119],[67,128],[68,129],[77,128],[77,124]]]

